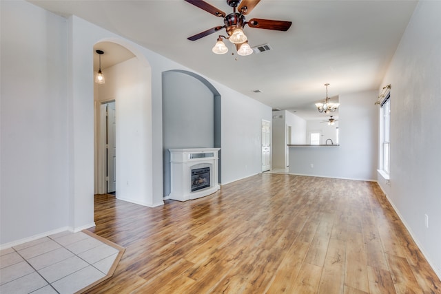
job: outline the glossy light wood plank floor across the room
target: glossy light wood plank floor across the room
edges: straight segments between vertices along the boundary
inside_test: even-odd
[[[88,293],[441,293],[375,182],[259,174],[153,209],[95,199],[90,231],[126,251]]]

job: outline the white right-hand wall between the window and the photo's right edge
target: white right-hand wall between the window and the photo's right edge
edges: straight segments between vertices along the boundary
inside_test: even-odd
[[[420,1],[382,85],[391,84],[391,186],[381,187],[441,276],[440,1]],[[429,228],[424,215],[429,216]]]

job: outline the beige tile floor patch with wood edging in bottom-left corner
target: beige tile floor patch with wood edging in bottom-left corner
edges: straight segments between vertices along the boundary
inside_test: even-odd
[[[124,249],[88,231],[0,251],[0,293],[76,293],[113,274]]]

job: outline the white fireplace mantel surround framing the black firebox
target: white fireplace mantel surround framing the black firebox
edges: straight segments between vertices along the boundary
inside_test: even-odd
[[[185,148],[170,150],[170,195],[186,201],[208,196],[220,189],[218,184],[218,151],[220,148]],[[209,167],[209,187],[192,191],[192,169]]]

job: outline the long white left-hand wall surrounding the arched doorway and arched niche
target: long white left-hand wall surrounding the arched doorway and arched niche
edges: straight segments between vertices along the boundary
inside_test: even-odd
[[[151,174],[144,197],[163,203],[162,73],[189,69],[78,17],[25,1],[0,5],[1,244],[94,225],[92,64],[100,41],[123,45],[152,69],[151,100],[143,101],[137,130],[145,134],[139,148]],[[223,182],[258,174],[260,123],[271,120],[271,108],[210,83],[222,95]]]

